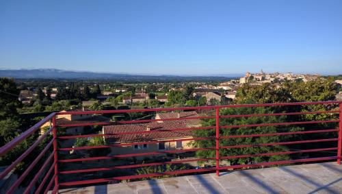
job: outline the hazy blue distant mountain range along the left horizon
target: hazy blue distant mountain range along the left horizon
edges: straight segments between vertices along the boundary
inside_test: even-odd
[[[133,75],[125,73],[96,73],[90,71],[65,71],[60,69],[0,69],[0,77],[16,79],[82,79],[82,80],[118,80],[118,81],[223,81],[227,78],[240,77],[241,74],[212,76],[178,75]]]

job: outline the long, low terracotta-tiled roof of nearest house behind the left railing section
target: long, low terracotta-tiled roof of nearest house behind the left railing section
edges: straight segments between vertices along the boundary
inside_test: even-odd
[[[192,130],[186,131],[163,131],[163,130],[175,130],[189,128],[183,121],[172,121],[163,123],[141,123],[134,125],[107,125],[103,126],[104,134],[106,135],[105,141],[107,143],[129,143],[129,142],[141,142],[141,141],[155,141],[174,138],[186,138],[194,136]],[[119,134],[124,132],[144,132],[151,131],[144,134]],[[162,130],[162,131],[161,131]]]

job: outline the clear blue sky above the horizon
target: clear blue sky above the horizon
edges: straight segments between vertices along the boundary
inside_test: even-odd
[[[342,73],[342,1],[0,0],[0,69]]]

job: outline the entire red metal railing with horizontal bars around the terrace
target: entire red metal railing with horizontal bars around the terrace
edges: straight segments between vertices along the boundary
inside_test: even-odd
[[[235,114],[235,115],[220,115],[220,110],[225,108],[256,108],[256,107],[290,107],[290,106],[314,106],[314,105],[332,105],[337,106],[336,110],[324,110],[324,111],[313,111],[313,112],[278,112],[278,113],[263,113],[263,114]],[[213,110],[213,114],[207,114],[205,116],[200,117],[185,117],[185,118],[172,118],[172,119],[143,119],[143,120],[131,120],[131,121],[115,121],[115,122],[93,122],[93,123],[71,123],[64,125],[56,124],[56,116],[62,114],[118,114],[118,113],[131,113],[131,112],[161,112],[161,111],[174,111],[174,110]],[[207,111],[208,112],[208,111]],[[289,115],[304,115],[304,114],[336,114],[336,119],[329,120],[319,120],[319,121],[293,121],[293,122],[284,122],[284,123],[255,123],[255,124],[245,124],[245,125],[220,125],[221,119],[228,118],[241,118],[241,117],[269,117],[269,116],[289,116]],[[193,136],[192,138],[177,138],[175,139],[167,139],[167,140],[150,140],[150,141],[141,141],[141,142],[124,142],[124,143],[114,143],[114,144],[106,144],[106,145],[95,145],[95,146],[82,146],[82,147],[61,147],[59,146],[59,142],[75,139],[75,138],[93,138],[96,136],[109,136],[113,134],[78,134],[73,136],[58,136],[58,130],[60,128],[70,128],[70,127],[79,127],[79,126],[90,126],[90,125],[122,125],[122,124],[135,124],[135,123],[150,123],[156,121],[179,121],[179,120],[188,120],[188,119],[215,119],[215,125],[213,126],[197,126],[192,128],[176,128],[176,129],[164,129],[164,130],[146,130],[140,132],[120,132],[115,135],[128,135],[128,134],[151,134],[157,132],[182,132],[182,131],[196,131],[196,130],[213,130],[215,131],[215,136]],[[101,111],[86,111],[86,112],[58,112],[52,113],[47,118],[42,119],[39,123],[29,128],[29,130],[23,132],[20,136],[14,138],[10,143],[4,145],[0,148],[0,157],[8,154],[9,151],[14,149],[18,144],[22,143],[26,138],[35,134],[40,130],[40,127],[44,125],[44,123],[51,122],[51,127],[47,132],[44,132],[37,140],[34,142],[29,149],[24,151],[21,156],[19,156],[16,160],[12,162],[3,172],[0,174],[1,180],[5,178],[20,162],[22,162],[31,152],[36,149],[38,145],[40,145],[45,139],[47,139],[48,143],[46,143],[44,149],[36,156],[34,161],[32,161],[27,169],[18,176],[18,179],[14,184],[12,184],[5,193],[14,193],[18,186],[23,183],[23,180],[28,177],[29,173],[34,169],[34,167],[38,164],[38,162],[43,162],[42,166],[38,171],[34,172],[34,175],[31,175],[32,178],[29,180],[29,183],[25,185],[23,193],[47,193],[52,189],[52,193],[57,193],[58,189],[62,186],[77,186],[81,184],[97,184],[103,182],[111,182],[111,181],[120,181],[120,180],[131,180],[131,179],[140,179],[140,178],[152,178],[163,175],[180,175],[180,174],[188,174],[188,173],[201,173],[201,172],[209,172],[215,171],[217,175],[220,175],[220,171],[226,169],[239,169],[246,167],[263,167],[263,166],[271,166],[271,165],[285,165],[291,163],[300,163],[300,162],[318,162],[318,161],[327,161],[327,160],[337,160],[339,164],[341,164],[341,148],[342,148],[342,102],[341,101],[320,101],[320,102],[300,102],[300,103],[279,103],[279,104],[244,104],[244,105],[228,105],[228,106],[202,106],[202,107],[185,107],[185,108],[153,108],[153,109],[137,109],[137,110],[101,110]],[[309,125],[309,124],[319,124],[319,123],[339,123],[338,128],[329,128],[329,129],[314,129],[314,130],[304,130],[304,131],[295,131],[295,132],[275,132],[275,133],[263,133],[263,134],[243,134],[243,135],[231,135],[231,136],[223,136],[220,135],[220,131],[222,130],[230,130],[233,128],[253,128],[253,127],[267,127],[267,126],[282,126],[282,125]],[[230,139],[230,138],[254,138],[254,137],[263,137],[263,136],[286,136],[286,135],[305,135],[305,134],[323,134],[323,133],[332,133],[338,132],[337,138],[331,136],[332,138],[321,138],[321,139],[309,139],[309,140],[296,140],[296,141],[285,141],[285,142],[274,142],[274,143],[252,143],[248,145],[220,145],[220,140]],[[52,134],[52,136],[51,136]],[[119,155],[109,155],[109,156],[96,156],[96,157],[85,157],[85,158],[58,158],[58,153],[61,151],[75,151],[75,150],[84,150],[84,149],[103,149],[103,148],[111,148],[111,147],[127,147],[134,145],[148,145],[148,144],[156,144],[156,143],[167,143],[174,141],[213,141],[215,142],[215,146],[213,147],[192,147],[189,149],[174,149],[174,150],[164,150],[164,151],[149,151],[143,153],[133,153],[133,154],[119,154]],[[244,154],[239,156],[220,156],[221,149],[235,149],[235,148],[244,148],[244,147],[265,147],[265,146],[277,146],[277,145],[298,145],[305,143],[331,143],[337,142],[337,146],[334,147],[315,147],[315,149],[300,149],[300,150],[290,150],[290,151],[274,151],[269,153],[255,153],[255,154]],[[96,167],[92,169],[61,169],[60,165],[68,164],[70,162],[86,162],[92,160],[107,160],[113,158],[132,158],[139,156],[157,156],[161,154],[179,154],[186,153],[191,151],[215,151],[215,158],[187,158],[182,160],[171,160],[171,161],[163,161],[163,162],[149,162],[142,164],[133,164],[133,165],[116,165],[112,167]],[[230,160],[236,158],[250,158],[250,157],[258,157],[258,156],[277,156],[284,154],[299,154],[299,153],[323,153],[324,151],[336,151],[337,156],[324,156],[319,158],[304,158],[304,159],[294,159],[294,160],[281,160],[274,162],[261,162],[256,164],[246,164],[246,165],[229,165],[229,166],[220,166],[220,161],[222,160]],[[50,153],[50,154],[49,154]],[[44,161],[42,158],[44,158]],[[171,165],[171,164],[180,164],[185,162],[207,162],[213,161],[215,165],[212,167],[199,168],[199,169],[186,169],[186,170],[176,170],[176,171],[164,171],[162,173],[148,173],[148,174],[138,174],[138,175],[124,175],[117,176],[112,178],[96,178],[92,180],[75,180],[62,182],[60,178],[61,175],[68,175],[74,173],[91,173],[97,171],[110,171],[115,169],[134,169],[141,167],[154,167],[159,165]],[[39,182],[39,184],[38,184]],[[53,186],[54,185],[54,186]],[[52,188],[53,186],[53,188]]]

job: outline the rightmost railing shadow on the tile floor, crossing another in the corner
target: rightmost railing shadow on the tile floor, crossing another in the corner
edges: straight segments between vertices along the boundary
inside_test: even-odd
[[[341,193],[339,191],[335,191],[334,189],[329,188],[328,186],[333,184],[333,183],[329,183],[329,184],[320,184],[318,182],[315,182],[314,180],[311,180],[309,178],[307,178],[305,175],[302,175],[300,173],[297,173],[295,171],[293,171],[292,169],[289,169],[289,167],[279,167],[280,170],[285,171],[286,173],[289,173],[290,175],[293,175],[297,178],[300,178],[300,180],[303,180],[304,182],[311,184],[313,186],[316,186],[317,189],[315,189],[314,191],[311,191],[310,193],[317,193],[317,191],[321,191],[321,190],[325,190],[328,193]],[[336,182],[337,180],[335,180],[334,182]]]

